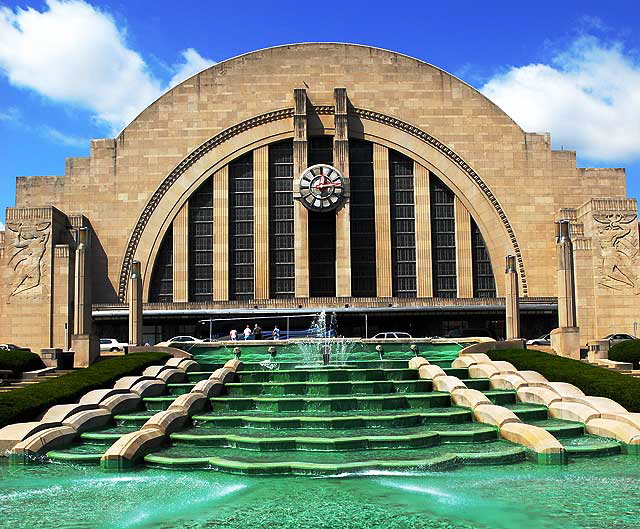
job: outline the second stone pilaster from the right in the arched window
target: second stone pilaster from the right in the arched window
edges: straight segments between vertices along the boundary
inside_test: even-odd
[[[431,195],[429,170],[414,162],[416,214],[416,276],[419,298],[433,297],[431,262]]]

